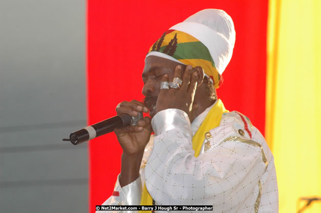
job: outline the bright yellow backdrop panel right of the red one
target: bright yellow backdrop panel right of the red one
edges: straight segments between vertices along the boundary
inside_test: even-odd
[[[321,197],[321,1],[269,1],[266,139],[280,213]],[[321,212],[313,202],[303,212]]]

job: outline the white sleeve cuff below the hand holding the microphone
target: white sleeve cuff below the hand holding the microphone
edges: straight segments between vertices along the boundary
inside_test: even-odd
[[[119,175],[115,184],[114,192],[110,198],[108,198],[102,205],[139,205],[142,184],[140,176],[130,184],[120,187]],[[96,213],[107,213],[107,212],[136,212],[136,211],[96,211]]]

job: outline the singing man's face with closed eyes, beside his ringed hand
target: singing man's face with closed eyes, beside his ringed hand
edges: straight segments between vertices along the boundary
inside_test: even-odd
[[[156,56],[149,56],[145,59],[145,67],[142,74],[144,82],[142,93],[145,96],[144,104],[149,108],[149,115],[152,117],[156,112],[156,102],[162,78],[167,74],[169,81],[172,81],[177,65],[182,64]],[[185,65],[182,65],[182,69],[185,69]]]

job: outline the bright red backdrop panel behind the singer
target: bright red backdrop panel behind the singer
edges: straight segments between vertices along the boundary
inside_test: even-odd
[[[141,73],[149,47],[166,31],[206,8],[233,19],[236,44],[218,97],[264,133],[267,1],[88,1],[89,124],[116,114],[121,101],[142,100]],[[114,133],[90,142],[90,212],[110,197],[120,172]]]

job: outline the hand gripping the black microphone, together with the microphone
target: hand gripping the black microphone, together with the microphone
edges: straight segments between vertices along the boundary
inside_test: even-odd
[[[137,154],[144,149],[152,132],[151,119],[142,114],[148,112],[148,108],[133,100],[119,103],[116,111],[117,116],[73,132],[69,139],[62,140],[78,145],[115,130],[123,151],[130,155]]]

